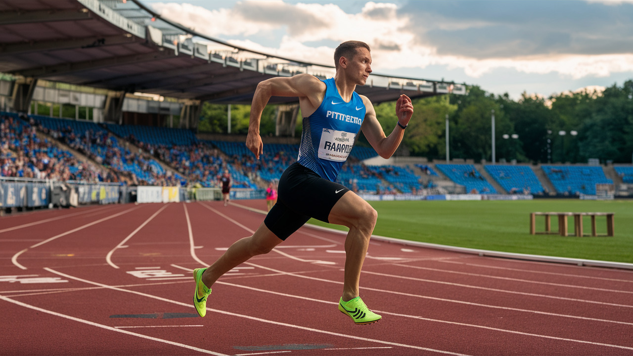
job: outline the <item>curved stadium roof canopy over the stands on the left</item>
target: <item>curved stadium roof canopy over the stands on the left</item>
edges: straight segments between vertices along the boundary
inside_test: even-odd
[[[264,79],[334,68],[249,51],[153,13],[137,0],[0,0],[0,72],[215,103],[251,103]],[[373,102],[446,92],[451,82],[370,75]],[[273,103],[296,98],[271,99]]]

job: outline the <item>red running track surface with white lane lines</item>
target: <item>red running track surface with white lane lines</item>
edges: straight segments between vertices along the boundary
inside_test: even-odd
[[[337,310],[344,236],[310,227],[187,317],[189,270],[262,221],[219,202],[0,218],[0,354],[633,355],[632,272],[372,241],[361,296],[383,319],[356,326]]]

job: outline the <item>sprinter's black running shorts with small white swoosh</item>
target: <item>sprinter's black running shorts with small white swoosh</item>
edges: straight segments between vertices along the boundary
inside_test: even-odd
[[[349,189],[341,184],[293,163],[279,179],[277,203],[266,215],[264,224],[285,240],[311,217],[329,222],[330,211],[347,191]]]

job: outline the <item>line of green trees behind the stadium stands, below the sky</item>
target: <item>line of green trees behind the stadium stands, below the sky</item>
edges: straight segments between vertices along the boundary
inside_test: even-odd
[[[395,105],[375,105],[385,134],[396,126]],[[497,160],[586,163],[589,158],[598,158],[602,163],[630,163],[633,158],[633,80],[622,86],[613,84],[601,93],[563,92],[541,98],[524,92],[517,100],[507,93],[495,95],[470,86],[467,95],[414,99],[413,106],[413,118],[404,132],[399,154],[446,158],[448,115],[451,159],[490,162],[494,110]],[[250,106],[233,105],[231,111],[231,132],[246,134]],[[275,106],[266,106],[261,118],[263,136],[275,134],[276,115]],[[227,105],[204,103],[199,130],[227,132]],[[295,136],[300,134],[301,113]],[[518,138],[512,138],[513,134]],[[362,134],[357,144],[369,146]]]

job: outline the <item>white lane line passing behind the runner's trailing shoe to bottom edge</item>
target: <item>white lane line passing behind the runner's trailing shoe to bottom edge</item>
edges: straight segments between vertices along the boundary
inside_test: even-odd
[[[92,281],[88,281],[86,279],[82,279],[82,278],[79,278],[79,277],[69,276],[68,274],[65,274],[65,273],[62,273],[62,272],[58,272],[58,271],[53,270],[53,269],[49,269],[48,267],[44,267],[44,270],[47,270],[47,271],[49,271],[51,273],[54,273],[54,274],[58,274],[60,276],[65,276],[65,277],[70,278],[70,279],[75,279],[75,281],[80,281],[80,282],[84,282],[84,283],[88,283],[88,284],[93,284],[95,286],[101,286],[103,288],[113,289],[113,290],[116,290],[116,291],[123,291],[123,292],[126,292],[126,293],[132,293],[132,294],[136,294],[136,295],[141,295],[141,296],[145,296],[147,298],[153,298],[153,299],[161,300],[161,301],[167,302],[167,303],[174,303],[174,304],[177,304],[177,305],[182,305],[183,307],[194,308],[192,303],[181,303],[181,302],[177,302],[175,300],[162,298],[160,296],[155,296],[155,295],[149,295],[149,294],[146,294],[146,293],[141,293],[139,291],[134,291],[134,290],[130,290],[130,289],[123,289],[123,288],[116,288],[116,287],[113,287],[113,286],[108,286],[107,284],[98,283],[98,282],[92,282]],[[4,298],[4,297],[0,296],[0,298]],[[334,333],[333,331],[326,331],[326,330],[321,330],[321,329],[313,329],[312,327],[305,327],[305,326],[299,326],[299,325],[294,325],[294,324],[287,324],[285,322],[272,321],[272,320],[268,320],[268,319],[261,319],[261,318],[258,318],[258,317],[253,317],[251,315],[237,314],[237,313],[233,313],[233,312],[227,312],[225,310],[218,310],[218,309],[213,309],[213,308],[206,308],[206,310],[208,310],[210,312],[215,312],[215,313],[218,313],[218,314],[230,315],[230,316],[234,316],[234,317],[241,317],[241,318],[244,318],[244,319],[248,319],[250,321],[260,321],[260,322],[265,322],[266,324],[273,324],[273,325],[279,325],[279,326],[292,327],[294,329],[301,329],[301,330],[305,330],[305,331],[312,331],[314,333],[328,334],[328,335],[332,335],[332,336],[340,336],[341,338],[348,338],[348,339],[357,340],[357,341],[360,340],[360,341],[368,341],[368,342],[372,342],[372,343],[381,343],[381,344],[384,344],[384,345],[401,346],[401,347],[404,347],[404,348],[413,348],[415,350],[425,350],[425,351],[430,351],[430,352],[445,353],[445,354],[448,354],[448,355],[460,355],[460,356],[463,355],[461,353],[448,352],[448,351],[444,351],[444,350],[436,350],[434,348],[427,348],[427,347],[422,347],[422,346],[406,345],[406,344],[402,344],[402,343],[394,343],[394,342],[391,342],[391,341],[363,338],[361,336],[356,336],[356,335]],[[631,348],[631,349],[633,350],[633,348]]]

